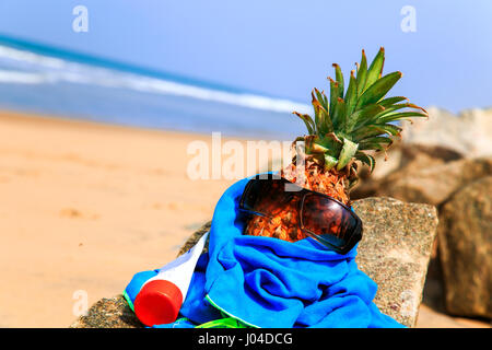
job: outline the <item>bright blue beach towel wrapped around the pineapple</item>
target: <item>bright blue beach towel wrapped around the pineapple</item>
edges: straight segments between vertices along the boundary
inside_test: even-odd
[[[405,327],[374,304],[377,285],[359,270],[356,246],[341,255],[311,237],[291,243],[243,235],[238,201],[248,180],[231,186],[215,207],[209,252],[198,260],[181,318],[156,327],[192,327],[224,316],[261,328]],[[156,271],[133,277],[125,291],[130,305]]]

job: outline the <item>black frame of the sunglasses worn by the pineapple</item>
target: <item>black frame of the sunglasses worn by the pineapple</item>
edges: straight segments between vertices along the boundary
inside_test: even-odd
[[[345,205],[342,203],[341,201],[339,201],[339,200],[337,200],[337,199],[335,199],[335,198],[332,198],[332,197],[330,197],[330,196],[327,196],[327,195],[324,195],[324,194],[320,194],[320,192],[316,192],[316,191],[314,191],[314,190],[309,190],[309,189],[303,188],[303,187],[301,187],[301,186],[298,186],[298,185],[296,185],[296,184],[293,184],[293,183],[291,183],[291,182],[289,182],[289,180],[286,180],[286,179],[284,179],[284,178],[281,178],[281,177],[278,177],[278,178],[276,178],[276,177],[274,177],[274,178],[270,178],[270,177],[269,177],[269,178],[253,178],[253,179],[250,179],[250,180],[246,184],[246,187],[245,187],[245,189],[244,189],[244,191],[243,191],[243,195],[242,195],[242,197],[241,197],[241,200],[239,200],[239,209],[241,209],[241,210],[246,211],[246,212],[249,212],[249,213],[251,213],[251,214],[256,214],[256,215],[260,215],[260,217],[265,217],[265,218],[270,218],[269,215],[267,215],[267,214],[265,214],[265,213],[261,213],[261,212],[257,212],[257,211],[247,209],[247,208],[245,208],[245,206],[244,206],[244,202],[245,202],[245,200],[246,200],[246,194],[248,192],[248,190],[250,189],[250,187],[253,186],[253,184],[254,184],[255,182],[257,182],[257,180],[270,180],[270,182],[276,182],[276,180],[279,182],[279,180],[280,180],[280,182],[282,182],[282,183],[284,183],[284,184],[286,184],[286,185],[289,185],[289,186],[295,186],[295,187],[297,187],[298,190],[292,190],[292,192],[298,192],[298,195],[300,195],[300,197],[301,197],[301,200],[300,200],[298,203],[297,203],[298,229],[300,229],[302,232],[304,232],[306,235],[311,236],[312,238],[314,238],[315,241],[317,241],[318,243],[320,243],[321,245],[324,245],[324,246],[326,246],[326,247],[328,247],[328,248],[331,248],[331,249],[333,249],[333,250],[337,252],[337,253],[340,253],[340,254],[347,254],[347,253],[349,253],[349,252],[355,246],[355,244],[356,244],[359,241],[361,241],[361,238],[362,238],[362,232],[363,232],[362,220],[361,220],[361,218],[359,218],[359,217],[353,212],[353,210],[352,210],[350,207],[345,206]],[[327,199],[333,201],[335,203],[339,205],[340,207],[342,207],[350,215],[352,215],[353,219],[355,219],[355,222],[356,222],[355,228],[353,229],[353,231],[352,231],[351,233],[349,233],[349,240],[344,240],[344,241],[345,241],[345,244],[344,244],[343,246],[340,247],[340,246],[333,245],[331,242],[329,242],[329,241],[327,241],[326,238],[324,238],[323,236],[320,236],[320,235],[318,235],[318,234],[312,232],[311,230],[308,230],[308,229],[304,225],[304,223],[303,223],[303,214],[302,214],[302,213],[303,213],[303,209],[304,209],[304,201],[305,201],[305,199],[306,199],[307,196],[325,197],[325,198],[327,198]]]

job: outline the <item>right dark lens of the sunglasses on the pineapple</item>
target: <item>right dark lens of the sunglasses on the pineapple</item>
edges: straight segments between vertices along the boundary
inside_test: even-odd
[[[330,198],[314,195],[304,199],[302,222],[304,229],[337,247],[347,245],[358,226],[349,209]]]

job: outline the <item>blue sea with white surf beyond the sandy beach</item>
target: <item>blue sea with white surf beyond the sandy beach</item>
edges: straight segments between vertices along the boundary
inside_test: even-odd
[[[0,108],[104,124],[294,139],[309,105],[0,35]]]

